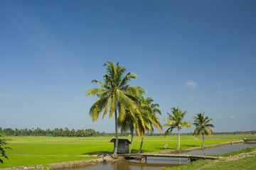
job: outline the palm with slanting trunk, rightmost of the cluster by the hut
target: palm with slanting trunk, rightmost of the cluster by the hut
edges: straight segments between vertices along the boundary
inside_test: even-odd
[[[139,107],[139,111],[142,113],[142,118],[144,120],[144,128],[141,125],[137,125],[137,128],[142,133],[142,142],[139,147],[139,153],[142,152],[142,145],[144,141],[144,135],[146,131],[154,131],[154,127],[156,127],[160,132],[162,129],[162,125],[159,122],[159,118],[156,116],[156,113],[161,115],[161,111],[159,110],[158,103],[152,103],[154,100],[150,97],[144,98],[140,97],[141,105]]]

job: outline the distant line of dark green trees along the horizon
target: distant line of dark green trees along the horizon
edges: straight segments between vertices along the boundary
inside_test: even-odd
[[[11,129],[5,128],[4,130],[0,128],[0,133],[4,133],[7,136],[49,136],[49,137],[112,137],[115,133],[106,132],[96,132],[93,129],[85,130],[69,130],[68,128],[55,128],[53,130],[41,130],[41,128],[36,129]],[[255,135],[256,130],[250,131],[235,131],[235,132],[213,132],[213,135]],[[119,136],[129,136],[129,132],[124,132],[119,134]],[[162,133],[148,132],[146,136],[162,136]],[[170,135],[177,135],[176,133],[171,133]],[[181,135],[192,135],[192,132],[181,133]]]

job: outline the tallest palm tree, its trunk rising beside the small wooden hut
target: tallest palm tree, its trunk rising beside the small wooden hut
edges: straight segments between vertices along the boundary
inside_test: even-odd
[[[90,117],[93,121],[97,120],[100,113],[103,111],[102,119],[110,111],[110,118],[114,115],[115,120],[115,133],[116,141],[114,147],[113,157],[117,158],[118,148],[118,128],[117,128],[117,111],[119,118],[124,118],[125,109],[128,109],[130,113],[137,112],[137,106],[134,103],[134,96],[139,96],[141,91],[134,86],[129,86],[128,82],[131,79],[137,79],[137,75],[126,72],[125,67],[116,65],[113,62],[107,62],[103,64],[106,67],[107,72],[104,75],[104,82],[92,80],[92,82],[100,84],[101,88],[94,88],[87,91],[87,96],[97,95],[98,99],[92,104],[90,108]]]

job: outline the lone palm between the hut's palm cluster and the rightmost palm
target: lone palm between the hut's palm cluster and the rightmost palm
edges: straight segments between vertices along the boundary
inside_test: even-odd
[[[167,113],[169,115],[169,118],[165,119],[168,121],[168,123],[164,124],[164,127],[169,126],[169,128],[166,130],[166,132],[164,132],[164,136],[168,135],[169,132],[172,132],[174,128],[178,128],[178,150],[181,143],[181,127],[191,128],[192,126],[188,121],[182,121],[184,116],[186,115],[186,111],[182,113],[181,109],[173,107],[171,108],[171,112],[173,115]]]

